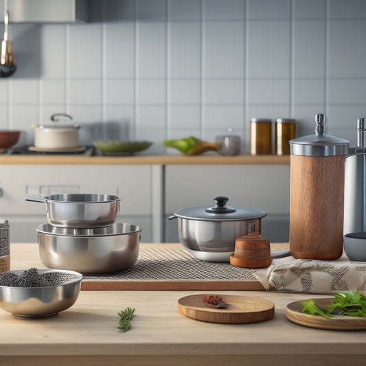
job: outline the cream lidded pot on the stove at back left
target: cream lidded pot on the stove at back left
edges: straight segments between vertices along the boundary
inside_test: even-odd
[[[62,120],[63,118],[63,120]],[[34,128],[34,146],[40,149],[76,148],[79,145],[79,124],[71,124],[70,115],[58,113],[51,116],[50,124],[32,124]]]

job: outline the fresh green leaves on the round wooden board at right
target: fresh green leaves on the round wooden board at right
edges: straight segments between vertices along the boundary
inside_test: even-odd
[[[334,291],[334,300],[328,308],[318,308],[314,300],[300,301],[302,312],[322,317],[332,317],[332,313],[350,315],[351,317],[366,317],[366,296],[358,291]]]

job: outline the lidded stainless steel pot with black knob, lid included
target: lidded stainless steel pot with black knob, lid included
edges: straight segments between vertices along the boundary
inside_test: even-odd
[[[262,218],[266,212],[260,209],[229,207],[229,198],[215,196],[215,205],[187,207],[174,212],[178,218],[179,241],[198,260],[229,262],[234,253],[236,238],[246,235],[255,224],[261,232]]]

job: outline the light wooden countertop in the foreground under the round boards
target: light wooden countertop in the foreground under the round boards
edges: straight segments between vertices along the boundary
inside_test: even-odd
[[[11,244],[12,269],[34,263]],[[151,244],[155,245],[155,244]],[[32,246],[34,248],[34,246]],[[225,291],[275,304],[275,317],[251,324],[205,323],[187,318],[177,301],[194,291],[88,291],[58,317],[23,320],[0,310],[3,365],[363,365],[366,331],[306,328],[286,319],[292,301],[324,295]],[[198,292],[200,293],[200,292]],[[126,333],[117,312],[132,306]]]

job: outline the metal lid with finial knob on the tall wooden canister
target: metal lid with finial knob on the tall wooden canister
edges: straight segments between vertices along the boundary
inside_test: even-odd
[[[302,155],[306,157],[347,155],[350,141],[326,135],[325,120],[325,115],[315,115],[315,135],[308,135],[290,140],[290,153],[292,155]]]

